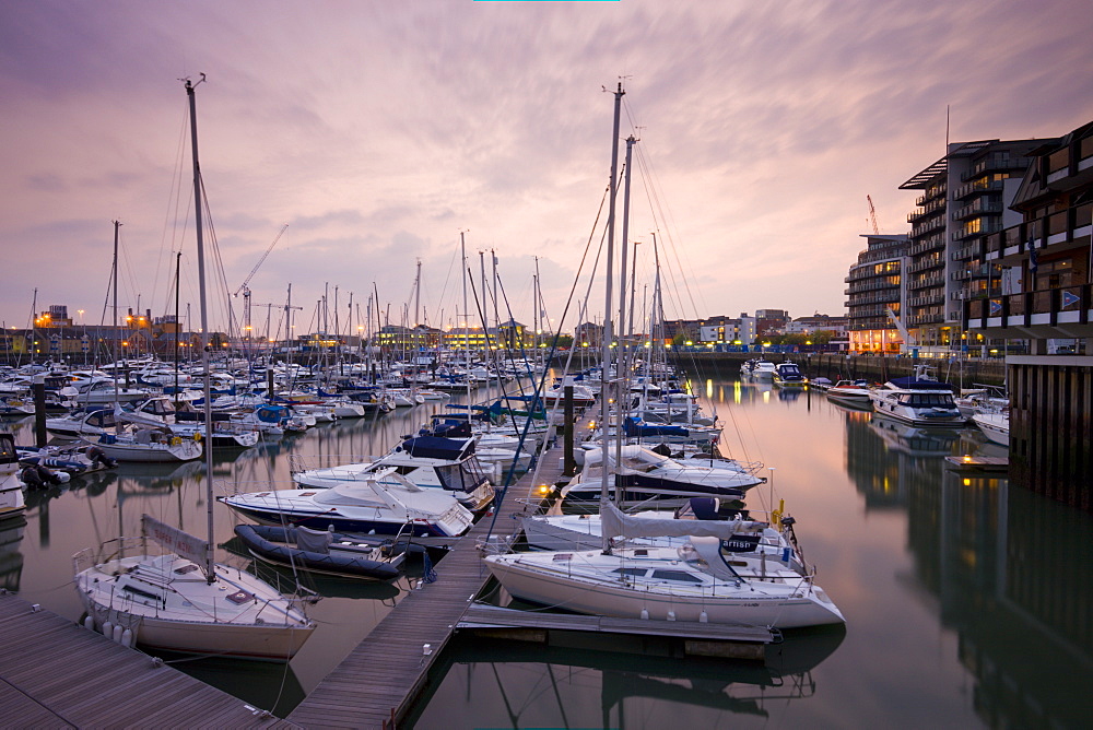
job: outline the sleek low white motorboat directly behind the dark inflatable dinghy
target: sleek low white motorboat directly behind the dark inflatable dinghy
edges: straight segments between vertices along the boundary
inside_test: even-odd
[[[474,521],[446,490],[415,486],[396,468],[329,488],[269,490],[219,497],[263,525],[414,538],[456,538]]]

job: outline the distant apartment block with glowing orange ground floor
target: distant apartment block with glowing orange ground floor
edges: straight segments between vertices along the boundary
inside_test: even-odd
[[[854,353],[898,353],[905,344],[896,320],[906,311],[908,236],[873,234],[863,238],[866,248],[844,280],[849,349]]]

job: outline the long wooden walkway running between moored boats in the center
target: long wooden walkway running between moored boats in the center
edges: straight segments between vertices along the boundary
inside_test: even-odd
[[[387,616],[304,698],[289,720],[306,728],[393,728],[424,688],[428,670],[489,578],[478,543],[490,532],[515,535],[514,519],[538,484],[562,473],[561,447],[543,452],[536,483],[529,472],[508,487],[496,521],[483,517],[436,564],[436,581],[404,596]]]

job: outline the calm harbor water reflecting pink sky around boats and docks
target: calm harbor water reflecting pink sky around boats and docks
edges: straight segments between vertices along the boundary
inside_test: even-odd
[[[725,422],[722,448],[763,461],[786,501],[845,632],[789,636],[766,664],[679,660],[650,647],[616,651],[459,640],[418,718],[474,727],[1089,727],[1093,680],[1093,519],[1004,479],[954,474],[948,454],[1001,455],[975,432],[914,432],[873,422],[815,393],[696,378]],[[221,463],[244,488],[289,484],[289,455],[379,454],[433,407],[342,422]],[[32,422],[9,425],[30,441]],[[21,541],[0,550],[0,580],[73,621],[71,555],[142,513],[203,529],[200,467],[125,467],[33,494]],[[216,539],[233,516],[216,509]],[[230,550],[222,557],[231,556]],[[437,565],[443,576],[443,561]],[[325,582],[320,626],[285,673],[254,663],[178,666],[248,702],[291,707],[386,615],[408,586]]]

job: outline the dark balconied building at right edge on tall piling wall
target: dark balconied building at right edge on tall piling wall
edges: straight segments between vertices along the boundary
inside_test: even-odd
[[[1006,361],[1011,479],[1093,509],[1093,121],[1026,154],[1032,163],[1010,201],[1020,221],[984,239],[997,275],[986,296],[963,302],[963,323],[1029,340],[1030,354]],[[1059,338],[1077,340],[1072,354],[1048,354]]]

